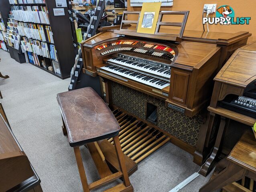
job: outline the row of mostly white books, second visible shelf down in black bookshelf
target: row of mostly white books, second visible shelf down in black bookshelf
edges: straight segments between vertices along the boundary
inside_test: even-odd
[[[17,6],[12,7],[15,20],[22,22],[50,24],[46,6]]]

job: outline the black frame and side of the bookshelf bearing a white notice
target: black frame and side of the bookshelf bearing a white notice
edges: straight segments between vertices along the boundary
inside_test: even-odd
[[[7,1],[8,0],[0,0],[0,1]],[[71,3],[71,0],[67,0],[67,5],[69,5],[69,2]],[[54,72],[45,69],[43,66],[37,66],[50,74],[53,74],[61,79],[69,78],[71,69],[75,62],[75,48],[73,46],[73,37],[72,37],[72,30],[69,20],[69,13],[68,13],[68,7],[62,7],[64,9],[64,16],[54,16],[53,9],[58,8],[56,7],[55,0],[45,0],[45,3],[33,3],[33,4],[14,4],[18,6],[46,6],[48,10],[49,15],[49,21],[50,24],[41,24],[43,26],[51,26],[51,31],[53,32],[53,40],[52,42],[47,42],[48,50],[50,51],[49,45],[54,44],[55,49],[57,50],[57,59],[59,63],[59,69],[61,74],[55,74]],[[12,5],[11,5],[12,6]],[[39,8],[40,9],[40,8]],[[35,24],[33,22],[26,22]],[[45,29],[44,29],[45,30]],[[45,35],[47,36],[47,33],[45,32]],[[45,41],[41,41],[45,42]],[[42,56],[40,56],[42,57]],[[46,58],[44,57],[43,60],[45,61],[45,64],[49,66],[52,65],[52,61],[54,59]],[[56,61],[56,60],[55,60]]]

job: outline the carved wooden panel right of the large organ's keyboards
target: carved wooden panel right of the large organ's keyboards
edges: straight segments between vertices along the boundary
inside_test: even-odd
[[[185,72],[178,69],[173,69],[171,71],[170,100],[185,105],[190,74],[191,72]]]

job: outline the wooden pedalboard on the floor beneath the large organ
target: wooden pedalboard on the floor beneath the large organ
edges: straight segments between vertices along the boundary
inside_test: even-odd
[[[119,140],[122,151],[134,162],[139,163],[161,146],[170,138],[160,130],[150,127],[146,122],[140,121],[132,115],[116,109],[113,111],[119,125]],[[108,142],[114,144],[113,139]]]

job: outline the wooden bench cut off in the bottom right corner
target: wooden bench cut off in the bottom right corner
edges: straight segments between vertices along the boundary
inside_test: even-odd
[[[199,192],[212,192],[244,177],[256,180],[256,140],[246,132],[227,158],[221,160],[210,181]]]

